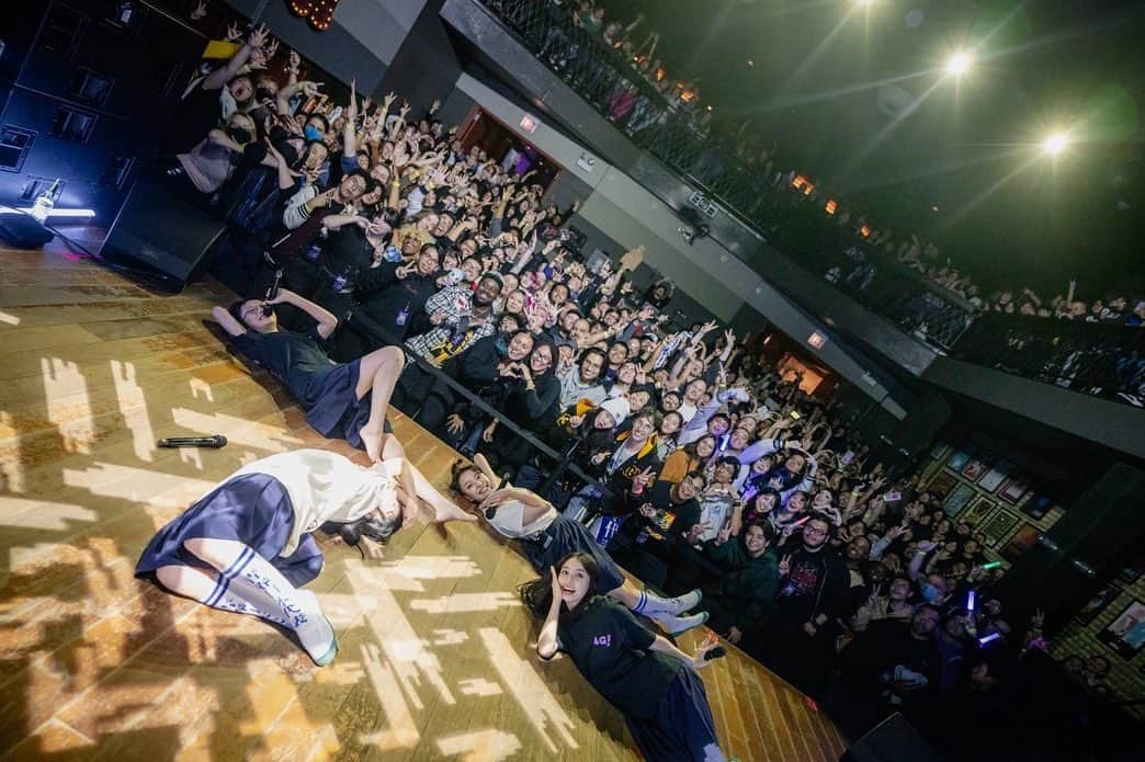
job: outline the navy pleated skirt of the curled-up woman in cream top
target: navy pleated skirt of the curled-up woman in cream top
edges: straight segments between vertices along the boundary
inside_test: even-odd
[[[293,554],[279,553],[290,541],[294,509],[282,483],[267,474],[246,474],[220,484],[159,530],[151,538],[136,577],[151,577],[160,566],[197,566],[214,571],[208,563],[183,547],[185,540],[210,538],[236,540],[269,561],[294,587],[301,587],[322,571],[322,550],[303,534]]]

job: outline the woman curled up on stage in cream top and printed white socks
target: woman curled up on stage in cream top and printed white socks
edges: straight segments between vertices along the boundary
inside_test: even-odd
[[[291,629],[323,667],[338,652],[338,638],[314,593],[298,589],[322,570],[311,532],[325,523],[348,525],[344,538],[374,549],[372,542],[385,542],[412,522],[414,497],[435,502],[411,484],[403,459],[363,468],[325,450],[270,455],[240,468],[159,530],[135,576]]]

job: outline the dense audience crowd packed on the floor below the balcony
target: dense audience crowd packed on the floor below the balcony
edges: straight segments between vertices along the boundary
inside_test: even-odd
[[[599,8],[553,6],[668,81],[681,108],[698,100],[661,73],[655,35],[632,46],[633,27]],[[951,743],[962,731],[943,717],[988,719],[1042,640],[1039,618],[1010,620],[994,595],[1002,569],[979,527],[947,516],[918,474],[887,474],[838,406],[781,375],[758,342],[714,323],[672,325],[672,284],[633,286],[641,249],[615,270],[586,267],[567,245],[569,211],[547,204],[531,173],[463,144],[436,104],[412,113],[353,84],[333,103],[295,54],[278,73],[264,29],[238,41],[189,87],[157,168],[227,220],[220,267],[237,287],[269,301],[286,286],[321,305],[338,320],[322,336],[335,360],[381,344],[426,360],[406,365],[394,405],[515,483],[544,484],[645,582],[669,595],[700,587],[709,626],[802,690],[870,720],[902,711]],[[546,43],[554,65],[577,56],[559,30]],[[592,76],[591,62],[581,69]],[[900,249],[973,296],[962,276],[926,264],[918,241]],[[1073,297],[981,305],[1101,320],[1128,309]],[[282,323],[313,325],[275,302]],[[594,482],[548,478],[555,463],[516,429]]]

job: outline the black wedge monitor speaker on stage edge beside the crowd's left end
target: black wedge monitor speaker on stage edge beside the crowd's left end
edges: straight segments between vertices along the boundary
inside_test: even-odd
[[[182,288],[207,264],[207,254],[224,224],[161,185],[135,181],[100,256],[121,267],[142,270]]]

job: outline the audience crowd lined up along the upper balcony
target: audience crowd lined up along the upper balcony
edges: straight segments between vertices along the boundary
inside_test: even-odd
[[[540,58],[570,81],[591,102],[598,104],[609,120],[630,135],[647,133],[665,125],[687,124],[702,145],[690,157],[688,169],[697,178],[718,188],[716,177],[735,169],[745,170],[771,186],[769,192],[755,193],[763,200],[775,195],[775,188],[791,188],[795,170],[784,172],[776,165],[777,145],[766,143],[759,130],[749,129],[750,121],[727,124],[712,119],[711,108],[701,108],[698,80],[694,77],[670,76],[661,58],[655,56],[660,35],[649,33],[637,42],[633,32],[643,23],[642,15],[624,25],[609,19],[600,5],[591,1],[564,0],[489,0],[489,7],[527,39],[537,38]],[[544,14],[539,9],[544,9]],[[539,31],[538,31],[539,30]],[[600,49],[613,51],[602,61]],[[679,136],[677,136],[679,137]],[[719,146],[717,150],[716,146]],[[819,183],[808,180],[812,188]],[[810,195],[822,201],[823,193]],[[803,192],[799,197],[804,198]],[[787,199],[789,203],[792,199]],[[740,209],[752,220],[768,220],[757,212]],[[859,244],[848,252],[861,257],[864,249],[876,249],[916,270],[929,281],[961,296],[974,311],[1004,312],[1066,320],[1084,320],[1140,327],[1145,325],[1145,294],[1110,291],[1080,297],[1077,284],[1071,280],[1064,293],[1039,295],[1029,286],[985,291],[965,270],[940,260],[939,248],[917,235],[900,236],[890,229],[871,228],[864,215],[846,208],[832,213],[831,221],[850,230]],[[862,231],[862,232],[861,232]],[[862,239],[860,240],[860,236]]]

